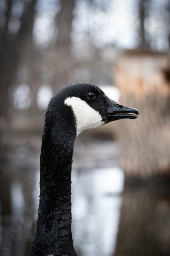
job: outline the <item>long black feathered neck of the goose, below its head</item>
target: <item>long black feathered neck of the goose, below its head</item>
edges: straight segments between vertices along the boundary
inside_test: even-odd
[[[74,116],[45,119],[40,157],[40,202],[31,256],[76,256],[71,230],[71,170],[76,137]],[[69,122],[68,122],[69,121]]]

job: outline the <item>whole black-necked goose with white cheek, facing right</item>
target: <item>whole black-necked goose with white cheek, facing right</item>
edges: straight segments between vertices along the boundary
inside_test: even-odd
[[[38,219],[30,256],[76,256],[71,229],[75,138],[85,129],[136,115],[136,108],[111,100],[92,84],[67,85],[51,98],[42,135]]]

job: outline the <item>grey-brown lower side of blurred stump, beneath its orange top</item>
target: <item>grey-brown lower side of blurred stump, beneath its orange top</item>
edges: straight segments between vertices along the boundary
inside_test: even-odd
[[[140,101],[123,95],[121,103],[135,107],[139,117],[117,123],[120,166],[126,176],[170,175],[170,97],[148,94]],[[121,122],[121,123],[120,123]]]

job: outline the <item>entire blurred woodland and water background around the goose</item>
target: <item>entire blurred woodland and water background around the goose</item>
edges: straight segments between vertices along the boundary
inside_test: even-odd
[[[140,112],[76,139],[77,255],[170,255],[169,49],[169,0],[0,1],[1,256],[30,253],[45,110],[74,82]]]

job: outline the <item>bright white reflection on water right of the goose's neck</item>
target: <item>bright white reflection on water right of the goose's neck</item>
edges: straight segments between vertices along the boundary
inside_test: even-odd
[[[81,256],[114,252],[124,174],[119,168],[73,170],[73,240]]]

